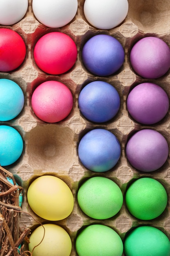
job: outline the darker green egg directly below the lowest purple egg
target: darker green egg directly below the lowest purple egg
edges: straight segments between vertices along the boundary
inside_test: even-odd
[[[166,209],[168,196],[164,186],[157,180],[144,177],[135,180],[126,191],[128,211],[140,220],[152,220]]]

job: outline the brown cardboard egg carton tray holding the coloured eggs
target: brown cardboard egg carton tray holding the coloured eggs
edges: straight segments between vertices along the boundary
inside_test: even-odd
[[[151,221],[137,220],[131,216],[124,202],[121,210],[116,216],[107,220],[95,220],[86,216],[77,204],[77,190],[80,184],[88,177],[96,175],[108,177],[114,180],[125,195],[128,183],[139,177],[153,177],[159,180],[170,194],[170,159],[157,171],[142,173],[133,168],[126,159],[126,143],[132,133],[143,128],[151,128],[160,132],[170,145],[170,114],[155,125],[145,126],[134,121],[126,108],[126,99],[132,87],[142,82],[152,82],[160,85],[170,98],[170,70],[159,79],[143,79],[132,70],[129,61],[130,49],[137,40],[144,36],[157,36],[163,39],[169,46],[169,22],[170,2],[169,0],[137,1],[128,0],[129,10],[124,22],[116,28],[100,30],[92,27],[86,20],[83,12],[84,0],[79,0],[78,10],[75,18],[66,26],[61,28],[48,28],[40,24],[33,15],[32,0],[29,0],[29,8],[24,18],[12,26],[0,26],[11,28],[18,32],[26,44],[26,58],[22,65],[9,73],[0,73],[0,78],[7,78],[20,85],[24,92],[25,103],[20,115],[11,121],[0,122],[17,129],[24,140],[24,151],[20,159],[14,164],[7,166],[17,182],[23,187],[23,213],[20,214],[20,226],[34,229],[38,224],[49,223],[49,221],[38,217],[28,205],[26,191],[29,184],[41,175],[51,174],[60,177],[71,188],[75,204],[73,212],[68,218],[56,223],[68,231],[73,242],[71,256],[75,252],[75,238],[77,232],[91,223],[101,223],[112,227],[124,240],[126,232],[138,225],[152,225],[160,228],[170,238],[170,207],[169,199],[166,210],[161,216]],[[75,65],[61,75],[49,75],[38,68],[33,58],[35,43],[44,34],[60,31],[74,40],[77,45],[77,61]],[[82,47],[84,43],[96,34],[108,34],[115,37],[125,51],[125,61],[118,72],[107,77],[97,77],[84,67],[82,63]],[[73,94],[74,104],[71,113],[55,124],[41,121],[35,116],[31,108],[31,96],[35,88],[42,82],[55,79],[64,83]],[[78,96],[82,88],[92,81],[102,80],[112,84],[119,92],[121,106],[116,117],[106,123],[95,124],[86,120],[78,108]],[[82,136],[94,128],[104,128],[116,135],[121,145],[121,157],[114,168],[105,173],[94,173],[86,169],[79,161],[77,146]],[[44,190],[46,188],[44,187]],[[45,202],[44,202],[45,204]]]

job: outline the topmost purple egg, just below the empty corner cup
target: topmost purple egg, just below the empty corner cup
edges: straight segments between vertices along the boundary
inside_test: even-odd
[[[142,38],[132,47],[130,63],[139,76],[159,78],[170,68],[170,48],[160,38]]]

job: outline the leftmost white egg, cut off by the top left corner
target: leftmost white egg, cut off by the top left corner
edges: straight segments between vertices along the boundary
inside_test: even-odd
[[[13,25],[19,22],[28,9],[28,0],[0,0],[0,24]]]

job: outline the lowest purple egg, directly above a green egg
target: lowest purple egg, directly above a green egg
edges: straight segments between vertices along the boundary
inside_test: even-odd
[[[136,132],[126,145],[126,157],[139,171],[152,172],[159,169],[168,158],[169,148],[161,133],[144,129]]]

